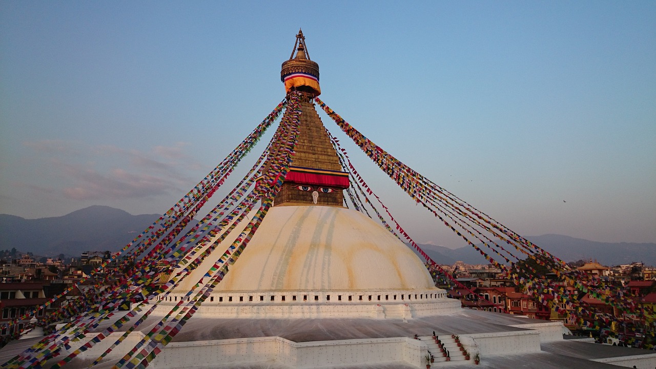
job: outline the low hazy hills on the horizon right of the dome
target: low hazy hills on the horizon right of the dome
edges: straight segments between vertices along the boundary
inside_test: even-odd
[[[654,243],[596,242],[561,234],[543,234],[526,238],[567,262],[596,259],[603,265],[619,265],[642,261],[645,265],[656,266],[656,244]],[[508,249],[507,245],[503,246]],[[459,260],[468,264],[487,263],[485,258],[471,246],[449,249],[443,246],[420,245],[420,248],[440,264],[453,264]],[[485,246],[482,246],[481,249],[493,257],[496,255]],[[498,259],[495,258],[495,260]]]

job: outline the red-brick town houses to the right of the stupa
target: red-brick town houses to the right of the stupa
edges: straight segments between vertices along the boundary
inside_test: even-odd
[[[642,263],[605,267],[596,261],[589,261],[577,269],[583,272],[585,278],[603,281],[617,286],[626,299],[632,299],[638,309],[634,313],[623,313],[588,293],[579,293],[574,286],[557,278],[555,273],[546,274],[545,278],[556,281],[556,285],[580,295],[584,304],[594,307],[597,314],[612,317],[611,324],[603,328],[594,326],[596,318],[584,318],[582,322],[578,314],[569,314],[569,307],[563,301],[554,302],[551,295],[543,295],[543,301],[535,295],[529,295],[521,288],[502,277],[502,271],[485,265],[464,265],[459,262],[451,267],[442,267],[453,273],[459,282],[459,287],[447,283],[446,278],[437,280],[438,286],[447,289],[447,295],[461,300],[463,307],[497,313],[526,316],[543,320],[562,320],[575,334],[592,334],[595,337],[621,337],[636,347],[656,344],[645,336],[645,332],[656,330],[656,269],[645,267]],[[438,274],[439,275],[439,274]],[[546,301],[546,303],[544,303]],[[556,311],[554,304],[558,304]],[[598,321],[598,320],[597,320]],[[583,324],[582,324],[583,323]],[[590,324],[592,323],[592,324]]]

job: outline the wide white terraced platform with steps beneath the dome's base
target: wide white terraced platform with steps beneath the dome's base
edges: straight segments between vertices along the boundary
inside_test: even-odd
[[[118,317],[117,317],[118,318]],[[98,368],[111,368],[144,337],[161,317],[153,317],[129,335]],[[98,332],[111,324],[105,322]],[[480,353],[474,366],[456,347],[446,345],[452,360],[434,349],[432,332],[443,341],[460,337],[470,353]],[[152,368],[299,369],[299,368],[425,368],[430,349],[432,368],[617,368],[656,366],[656,355],[641,349],[565,340],[560,322],[518,318],[501,313],[460,309],[457,313],[406,320],[377,318],[208,318],[193,316],[157,355]],[[417,334],[421,339],[413,338]],[[122,332],[86,351],[65,368],[85,368]],[[95,334],[72,343],[70,351]],[[0,351],[9,359],[37,339],[14,341]],[[68,351],[68,352],[70,352]],[[68,355],[62,352],[59,360]],[[13,353],[13,355],[12,355]],[[47,368],[57,360],[49,360]],[[536,366],[539,364],[539,366]]]

